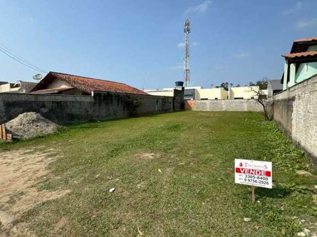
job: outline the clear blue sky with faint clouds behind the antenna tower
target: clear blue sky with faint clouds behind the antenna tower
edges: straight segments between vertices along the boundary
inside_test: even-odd
[[[317,0],[0,0],[0,44],[45,71],[171,87],[279,79],[294,39],[317,36]],[[1,46],[0,45],[0,46]],[[0,52],[0,81],[38,72]]]

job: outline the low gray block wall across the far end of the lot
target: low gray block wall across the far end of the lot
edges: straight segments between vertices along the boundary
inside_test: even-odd
[[[262,105],[250,100],[186,100],[185,109],[202,111],[257,111],[263,112]]]

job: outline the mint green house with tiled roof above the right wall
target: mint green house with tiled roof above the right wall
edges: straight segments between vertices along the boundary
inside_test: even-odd
[[[317,75],[317,37],[294,40],[285,58],[282,77],[283,90]]]

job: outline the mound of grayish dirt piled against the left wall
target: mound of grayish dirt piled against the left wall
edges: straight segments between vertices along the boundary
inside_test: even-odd
[[[59,127],[35,112],[21,114],[5,123],[5,126],[13,137],[24,139],[54,133]]]

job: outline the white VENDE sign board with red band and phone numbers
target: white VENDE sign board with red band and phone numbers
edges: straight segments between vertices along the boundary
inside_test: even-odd
[[[234,159],[234,180],[236,184],[271,189],[272,162]]]

